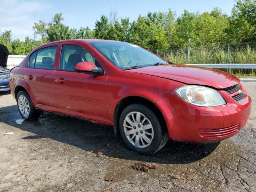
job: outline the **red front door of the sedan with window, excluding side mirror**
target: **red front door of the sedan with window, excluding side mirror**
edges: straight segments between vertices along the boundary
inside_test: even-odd
[[[107,78],[76,72],[74,66],[82,61],[100,65],[99,58],[91,50],[79,43],[63,43],[60,69],[54,72],[54,88],[58,112],[86,118],[98,122],[108,122]]]

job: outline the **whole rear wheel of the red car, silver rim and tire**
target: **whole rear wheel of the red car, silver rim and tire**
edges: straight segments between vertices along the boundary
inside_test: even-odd
[[[17,94],[17,106],[20,115],[26,120],[38,119],[41,114],[41,112],[34,107],[30,96],[24,91],[20,91]]]

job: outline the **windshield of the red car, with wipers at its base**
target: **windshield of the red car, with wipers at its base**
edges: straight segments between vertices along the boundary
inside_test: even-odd
[[[168,63],[151,52],[126,42],[90,42],[90,45],[122,70]]]

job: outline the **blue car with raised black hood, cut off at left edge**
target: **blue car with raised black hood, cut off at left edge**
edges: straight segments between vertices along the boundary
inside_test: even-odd
[[[8,48],[0,44],[0,92],[9,91],[10,70],[7,69]]]

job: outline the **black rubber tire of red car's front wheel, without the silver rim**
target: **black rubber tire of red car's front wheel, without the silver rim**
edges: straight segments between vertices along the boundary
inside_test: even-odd
[[[126,116],[132,112],[142,113],[144,116],[146,116],[146,118],[148,118],[148,120],[152,124],[154,130],[154,137],[152,139],[151,144],[146,148],[139,148],[134,146],[125,135],[124,120]],[[122,111],[120,115],[119,128],[120,134],[126,145],[134,152],[138,152],[140,154],[154,154],[155,152],[163,148],[168,140],[168,133],[166,129],[163,126],[161,126],[160,121],[158,120],[156,115],[152,112],[152,110],[141,104],[131,104]]]

